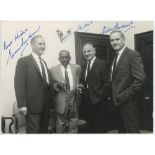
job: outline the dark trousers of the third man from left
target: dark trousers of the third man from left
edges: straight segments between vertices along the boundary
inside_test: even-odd
[[[83,94],[79,117],[87,121],[82,133],[105,133],[106,129],[106,104],[102,101],[93,104],[88,91]]]

